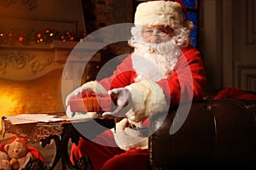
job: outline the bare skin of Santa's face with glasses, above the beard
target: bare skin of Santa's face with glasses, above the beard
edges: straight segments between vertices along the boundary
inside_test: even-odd
[[[173,36],[170,26],[143,26],[142,37],[144,42],[168,42]]]

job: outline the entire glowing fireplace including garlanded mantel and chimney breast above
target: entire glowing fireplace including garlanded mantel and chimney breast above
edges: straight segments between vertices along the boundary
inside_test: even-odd
[[[0,116],[65,111],[61,80],[69,82],[67,94],[75,88],[74,81],[81,81],[76,80],[76,72],[86,64],[80,61],[84,56],[77,56],[69,62],[72,71],[63,74],[73,48],[84,43],[79,37],[85,31],[81,1],[4,2],[0,4]],[[83,47],[95,50],[91,44]],[[100,52],[89,59],[99,62]]]

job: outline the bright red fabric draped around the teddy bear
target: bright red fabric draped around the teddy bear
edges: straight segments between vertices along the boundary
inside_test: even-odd
[[[10,144],[10,143],[14,142],[15,139],[17,139],[17,138],[20,138],[20,137],[18,137],[18,136],[15,135],[15,136],[14,136],[11,140],[9,140],[9,142],[6,143],[6,144]],[[21,140],[21,142],[22,142],[23,144],[26,145],[27,150],[29,150],[29,151],[32,152],[32,156],[33,156],[34,158],[38,158],[38,159],[40,159],[41,161],[44,161],[44,157],[41,155],[41,153],[39,152],[38,149],[36,149],[36,148],[34,148],[34,147],[32,147],[32,146],[28,146],[28,145],[26,144],[26,140],[25,140],[24,138],[20,138],[20,140]],[[5,150],[4,150],[4,145],[5,145],[5,144],[0,144],[0,150],[2,150],[2,151],[5,152]]]

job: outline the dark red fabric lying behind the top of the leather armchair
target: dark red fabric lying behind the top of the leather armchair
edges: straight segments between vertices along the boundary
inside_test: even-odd
[[[246,91],[237,88],[224,88],[212,99],[256,99],[255,94],[248,94]]]

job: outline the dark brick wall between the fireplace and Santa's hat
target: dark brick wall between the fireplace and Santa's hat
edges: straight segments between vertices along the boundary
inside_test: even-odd
[[[133,22],[132,0],[83,0],[82,4],[88,33],[97,31],[104,26]],[[131,48],[127,42],[113,43],[108,45],[107,49],[102,52],[102,63],[119,54],[130,52]]]

